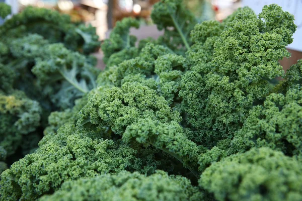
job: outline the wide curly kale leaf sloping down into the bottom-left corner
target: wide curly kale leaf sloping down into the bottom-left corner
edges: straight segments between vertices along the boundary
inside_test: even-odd
[[[100,136],[101,130],[95,134]],[[58,190],[64,181],[118,173],[154,172],[157,161],[147,149],[134,150],[121,140],[89,137],[65,124],[32,154],[15,162],[1,175],[0,200],[35,200]]]

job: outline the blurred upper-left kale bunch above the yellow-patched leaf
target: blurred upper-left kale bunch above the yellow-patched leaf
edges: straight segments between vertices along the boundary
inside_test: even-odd
[[[56,11],[27,7],[5,21],[0,34],[0,63],[15,71],[14,88],[38,100],[43,120],[52,111],[73,107],[96,86],[99,70],[83,55],[100,45],[95,28],[75,25]]]

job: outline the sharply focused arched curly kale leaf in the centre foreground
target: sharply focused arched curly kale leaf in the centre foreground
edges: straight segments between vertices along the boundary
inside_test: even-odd
[[[151,144],[176,156],[198,176],[194,167],[198,149],[183,134],[180,120],[179,113],[155,90],[138,82],[126,82],[121,88],[112,87],[101,95],[90,96],[78,125],[109,127],[125,142]]]

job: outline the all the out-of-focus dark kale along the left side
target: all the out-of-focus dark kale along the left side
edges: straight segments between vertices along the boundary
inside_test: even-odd
[[[0,4],[1,17],[10,7]],[[28,7],[0,26],[1,171],[32,153],[52,111],[72,108],[96,87],[99,70],[84,54],[100,42],[95,28],[58,12]]]

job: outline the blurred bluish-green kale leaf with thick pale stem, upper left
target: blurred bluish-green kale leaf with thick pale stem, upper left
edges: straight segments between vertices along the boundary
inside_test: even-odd
[[[49,112],[71,108],[76,98],[96,86],[99,70],[84,55],[61,43],[50,44],[42,36],[30,34],[8,46],[11,53],[3,57],[3,63],[6,70],[14,69],[17,74],[13,85],[39,100]]]

